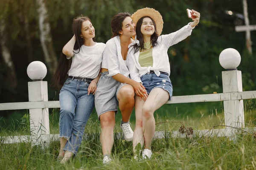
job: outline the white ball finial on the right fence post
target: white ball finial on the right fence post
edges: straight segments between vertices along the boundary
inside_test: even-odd
[[[241,62],[241,56],[236,49],[227,48],[221,51],[219,62],[225,69],[236,69]]]

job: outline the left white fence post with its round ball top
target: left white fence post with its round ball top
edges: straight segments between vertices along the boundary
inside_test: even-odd
[[[28,82],[29,102],[48,101],[47,82],[42,81],[47,74],[44,63],[39,61],[31,62],[27,68],[27,74],[33,82]],[[40,144],[44,141],[41,135],[50,134],[49,109],[29,109],[30,134],[33,144]]]

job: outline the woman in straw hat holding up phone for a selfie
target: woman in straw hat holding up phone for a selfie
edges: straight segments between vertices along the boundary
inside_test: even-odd
[[[137,159],[135,147],[138,143],[145,149],[143,159],[151,158],[151,142],[154,137],[154,111],[164,105],[172,97],[170,81],[170,64],[168,48],[191,35],[192,29],[199,23],[200,13],[193,11],[193,22],[171,34],[161,35],[163,19],[153,8],[143,8],[131,17],[136,23],[137,40],[128,50],[128,68],[131,79],[142,83],[148,94],[146,101],[135,97],[136,126],[133,138],[134,158]]]

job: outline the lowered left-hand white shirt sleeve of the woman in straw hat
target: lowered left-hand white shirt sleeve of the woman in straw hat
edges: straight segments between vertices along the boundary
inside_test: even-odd
[[[130,71],[131,79],[135,80],[136,82],[140,82],[142,84],[142,81],[141,81],[140,76],[139,76],[139,70],[136,68],[134,60],[131,56],[131,52],[132,51],[128,51],[128,54],[127,54],[127,57],[126,57],[127,66],[128,66],[128,70]]]

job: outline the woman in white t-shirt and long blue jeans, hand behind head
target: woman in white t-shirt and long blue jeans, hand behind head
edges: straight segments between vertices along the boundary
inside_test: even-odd
[[[63,47],[54,85],[60,91],[61,163],[76,155],[84,127],[94,108],[104,43],[95,42],[95,30],[88,17],[73,20],[74,36]],[[72,62],[71,62],[72,60]],[[70,65],[71,63],[71,65]]]

